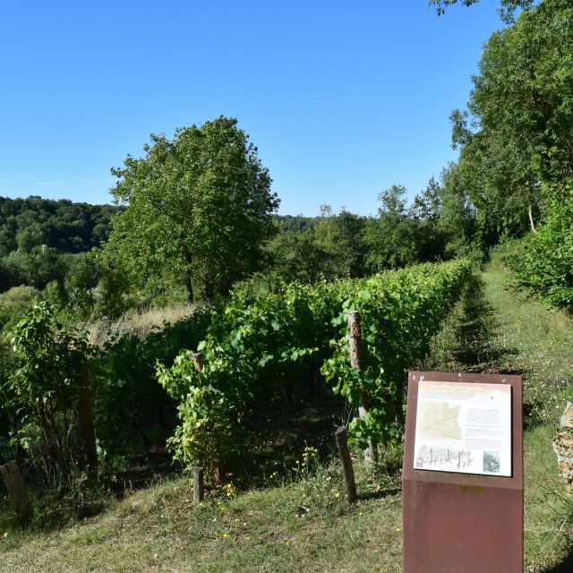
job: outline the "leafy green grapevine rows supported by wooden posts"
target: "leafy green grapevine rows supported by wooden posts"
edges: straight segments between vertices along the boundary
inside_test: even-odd
[[[159,425],[171,429],[168,445],[185,468],[220,476],[249,451],[261,412],[284,411],[326,382],[351,442],[388,444],[402,428],[406,370],[427,354],[469,273],[469,262],[453,261],[265,296],[243,290],[144,338],[101,346],[36,304],[14,330],[3,389],[11,443],[65,488],[77,463],[93,469],[94,434],[99,456],[114,457],[134,436],[149,448]],[[361,369],[348,359],[351,311],[362,315]]]

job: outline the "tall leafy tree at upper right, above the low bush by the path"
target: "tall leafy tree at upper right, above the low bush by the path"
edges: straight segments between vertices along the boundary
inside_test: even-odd
[[[488,40],[466,112],[452,114],[461,184],[488,235],[543,211],[540,183],[573,175],[573,5],[544,0]]]

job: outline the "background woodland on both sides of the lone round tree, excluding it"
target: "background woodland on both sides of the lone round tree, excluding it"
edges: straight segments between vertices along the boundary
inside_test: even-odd
[[[237,273],[234,283],[211,284],[207,291],[201,288],[203,273],[196,273],[190,282],[198,300],[213,302],[241,280],[247,286],[276,291],[293,281],[312,285],[471,252],[481,257],[473,244],[475,210],[458,196],[455,184],[451,168],[445,169],[440,181],[432,178],[411,204],[406,201],[406,188],[393,185],[380,193],[375,217],[349,210],[335,213],[329,205],[323,205],[313,218],[274,215],[267,238],[258,247],[259,256]],[[113,318],[133,307],[184,302],[185,273],[176,266],[174,255],[169,266],[149,259],[134,265],[137,257],[132,261],[131,252],[116,248],[121,225],[115,226],[115,235],[106,244],[115,214],[124,210],[38,197],[2,198],[0,206],[5,237],[0,291],[10,290],[0,303],[18,306],[42,291],[70,318],[85,320],[94,314]],[[141,233],[153,236],[153,229],[141,229]],[[167,237],[164,244],[168,241]],[[127,248],[133,246],[130,241],[124,243]],[[103,249],[92,249],[98,246]],[[168,259],[165,254],[164,259]],[[206,256],[205,268],[211,274],[218,269],[216,263]]]

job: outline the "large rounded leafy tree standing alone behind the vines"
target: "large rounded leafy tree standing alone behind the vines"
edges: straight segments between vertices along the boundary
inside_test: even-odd
[[[189,303],[197,290],[225,295],[261,268],[261,247],[276,231],[271,214],[279,201],[269,171],[235,118],[179,128],[173,140],[150,139],[143,158],[128,155],[112,169],[118,182],[111,192],[127,207],[115,217],[107,261],[140,284],[179,277]]]

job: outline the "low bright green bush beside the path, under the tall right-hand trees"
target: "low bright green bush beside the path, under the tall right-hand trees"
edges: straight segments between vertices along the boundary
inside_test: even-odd
[[[520,286],[573,309],[573,183],[547,192],[553,199],[543,226],[508,262]]]

